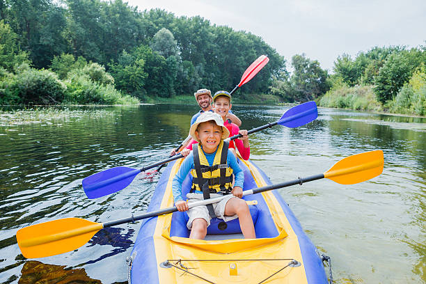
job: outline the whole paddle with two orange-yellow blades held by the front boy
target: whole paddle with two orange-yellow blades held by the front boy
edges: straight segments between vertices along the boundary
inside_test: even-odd
[[[260,192],[290,187],[295,184],[303,184],[303,182],[320,180],[322,178],[328,178],[339,184],[356,184],[380,175],[383,171],[383,166],[384,158],[381,150],[364,152],[338,161],[325,173],[312,175],[308,178],[298,178],[290,182],[272,184],[267,187],[249,189],[243,191],[243,195],[258,194]],[[223,197],[224,196],[200,200],[195,203],[189,203],[188,206],[191,208],[198,205],[215,203]],[[138,216],[132,215],[132,217],[129,218],[105,223],[95,223],[79,218],[59,219],[22,228],[17,231],[16,238],[24,257],[43,258],[45,256],[73,251],[83,246],[102,228],[147,219],[175,211],[178,211],[176,207],[168,207],[154,212],[146,212]]]

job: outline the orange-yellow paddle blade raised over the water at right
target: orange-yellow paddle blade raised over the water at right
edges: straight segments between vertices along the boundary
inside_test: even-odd
[[[383,151],[364,152],[338,161],[324,173],[324,178],[340,184],[356,184],[380,175],[383,164]]]

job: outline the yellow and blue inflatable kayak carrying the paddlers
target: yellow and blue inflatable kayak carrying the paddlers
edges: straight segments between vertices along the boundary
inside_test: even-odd
[[[183,159],[161,174],[148,212],[173,207],[171,184]],[[239,158],[244,190],[271,184],[253,161]],[[182,184],[182,196],[191,179]],[[256,239],[244,239],[238,219],[214,218],[203,240],[189,239],[186,212],[145,219],[127,259],[129,283],[327,283],[319,253],[276,190],[243,197]]]

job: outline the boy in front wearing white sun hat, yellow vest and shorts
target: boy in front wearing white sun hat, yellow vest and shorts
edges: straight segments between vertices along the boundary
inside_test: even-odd
[[[248,205],[242,198],[244,173],[237,164],[237,158],[228,150],[229,131],[217,113],[202,113],[191,125],[189,134],[198,141],[197,147],[184,159],[178,174],[173,178],[172,189],[175,206],[179,211],[188,211],[187,228],[191,239],[204,239],[207,227],[214,216],[223,221],[239,218],[244,238],[254,239],[255,230]],[[187,150],[189,152],[189,150]],[[191,171],[192,188],[187,194],[188,203],[197,200],[226,195],[213,205],[200,205],[188,208],[182,199],[182,182]],[[232,189],[232,173],[235,187]]]

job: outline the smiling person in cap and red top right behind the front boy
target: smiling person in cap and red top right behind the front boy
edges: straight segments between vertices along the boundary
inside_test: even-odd
[[[229,136],[242,134],[241,138],[229,142],[229,148],[232,149],[232,152],[236,155],[235,145],[237,145],[239,154],[243,159],[247,160],[250,157],[250,144],[248,143],[247,130],[239,130],[239,127],[228,119],[228,112],[232,107],[230,102],[230,93],[226,90],[219,90],[213,96],[214,112],[219,113],[222,117],[223,125],[225,125],[230,132]]]

